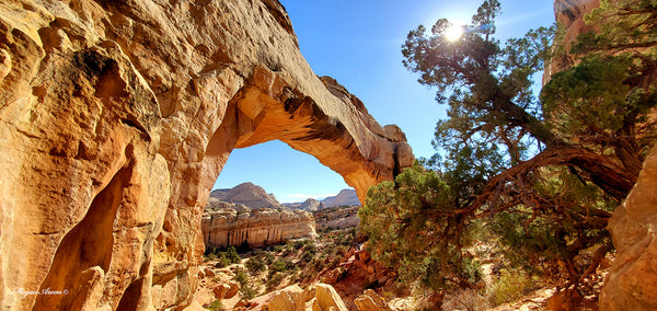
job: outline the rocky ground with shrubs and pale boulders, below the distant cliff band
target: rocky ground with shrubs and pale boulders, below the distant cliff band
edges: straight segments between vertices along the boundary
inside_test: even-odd
[[[355,311],[436,310],[436,303],[443,310],[598,310],[597,293],[613,261],[604,260],[590,280],[593,292],[584,298],[574,291],[555,296],[555,286],[532,285],[531,278],[512,275],[517,270],[500,273],[495,256],[482,258],[480,290],[439,297],[395,283],[395,273],[376,263],[357,235],[355,229],[322,231],[315,241],[241,253],[239,263],[228,266],[221,262],[222,253],[209,254],[188,310],[328,310],[312,309],[313,304]],[[504,287],[500,279],[507,283]]]

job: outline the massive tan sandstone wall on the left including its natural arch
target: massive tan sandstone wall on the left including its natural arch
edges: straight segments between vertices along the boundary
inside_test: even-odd
[[[0,120],[13,310],[188,304],[234,148],[279,139],[361,200],[413,161],[399,129],[312,72],[275,0],[0,1]]]

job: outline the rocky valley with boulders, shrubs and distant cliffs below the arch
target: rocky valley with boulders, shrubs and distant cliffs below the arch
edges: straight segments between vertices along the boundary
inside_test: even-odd
[[[351,192],[343,191],[337,201]],[[394,268],[372,260],[359,232],[359,203],[332,206],[336,197],[281,205],[250,183],[214,192],[204,214],[199,288],[188,309],[405,311],[431,310],[437,302],[442,310],[599,309],[597,297],[613,255],[587,280],[586,296],[558,297],[557,285],[511,268],[495,241],[480,241],[469,249],[482,273],[477,288],[436,296],[400,283]],[[279,239],[256,238],[280,231],[286,235]]]

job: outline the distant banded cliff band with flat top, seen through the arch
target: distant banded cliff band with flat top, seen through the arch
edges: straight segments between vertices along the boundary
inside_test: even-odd
[[[261,247],[291,239],[316,238],[315,220],[304,210],[270,208],[237,211],[234,209],[206,210],[201,231],[206,247],[243,245]]]

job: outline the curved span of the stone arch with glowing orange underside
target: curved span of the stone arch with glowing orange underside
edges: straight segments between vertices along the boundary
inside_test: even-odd
[[[312,97],[290,89],[279,73],[256,67],[250,85],[229,103],[221,126],[210,138],[204,158],[210,168],[203,181],[205,188],[214,185],[232,149],[276,139],[341,174],[362,201],[370,186],[412,164],[413,153],[401,129],[379,126],[344,87],[328,77],[321,81],[342,97],[330,104],[343,105],[346,117],[327,116]]]

